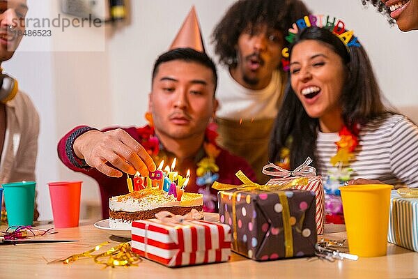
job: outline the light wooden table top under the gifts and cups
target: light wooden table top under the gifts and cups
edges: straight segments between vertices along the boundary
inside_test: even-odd
[[[47,228],[52,225],[42,225]],[[1,227],[5,229],[5,227]],[[49,239],[78,239],[70,243],[36,243],[0,245],[0,278],[418,278],[418,253],[388,243],[386,257],[327,262],[316,258],[282,259],[254,262],[232,253],[231,261],[169,268],[144,259],[138,267],[102,269],[93,259],[82,259],[72,264],[46,264],[47,260],[65,258],[93,248],[103,241],[118,244],[107,232],[91,224],[57,229]],[[345,232],[330,233],[325,237],[343,239]],[[107,248],[112,247],[106,246]],[[103,250],[104,251],[104,250]]]

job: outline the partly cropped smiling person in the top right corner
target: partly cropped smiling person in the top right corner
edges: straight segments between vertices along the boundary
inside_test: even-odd
[[[418,30],[418,0],[362,0],[364,6],[368,3],[386,15],[390,24],[396,20],[401,31]]]

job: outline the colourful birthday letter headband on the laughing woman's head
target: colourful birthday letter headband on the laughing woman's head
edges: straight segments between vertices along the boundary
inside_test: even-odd
[[[348,47],[359,47],[360,43],[357,37],[354,36],[353,30],[347,30],[346,24],[342,20],[338,20],[336,17],[330,15],[305,15],[292,24],[292,27],[288,29],[288,36],[286,40],[288,43],[295,41],[296,35],[307,27],[320,27],[330,30],[335,36],[337,36],[347,47],[347,51],[350,52]],[[289,48],[285,47],[281,51],[281,65],[286,71],[289,69]]]

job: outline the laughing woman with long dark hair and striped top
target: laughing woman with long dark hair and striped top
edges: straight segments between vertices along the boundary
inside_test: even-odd
[[[308,27],[295,36],[289,54],[290,84],[270,141],[270,160],[290,160],[295,169],[310,156],[332,195],[359,177],[418,187],[418,127],[383,105],[364,48],[345,45],[327,29]],[[334,197],[327,197],[332,213]],[[332,218],[327,216],[341,223]]]

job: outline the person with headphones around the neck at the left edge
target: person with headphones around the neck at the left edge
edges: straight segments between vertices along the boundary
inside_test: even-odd
[[[27,10],[26,0],[0,1],[0,67],[12,58],[22,40]],[[39,116],[31,99],[18,90],[13,77],[1,70],[0,184],[35,181],[38,135]],[[36,220],[36,206],[34,211]]]

